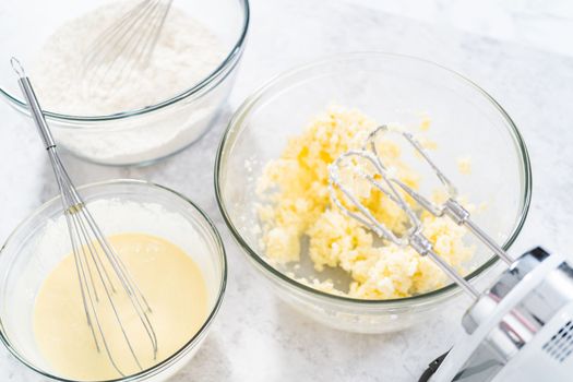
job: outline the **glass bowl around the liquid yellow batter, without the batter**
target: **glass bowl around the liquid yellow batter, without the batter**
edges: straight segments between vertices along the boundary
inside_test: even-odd
[[[207,317],[199,332],[187,338],[183,347],[160,363],[116,380],[165,381],[194,356],[223,301],[227,261],[220,237],[213,223],[196,205],[183,195],[158,184],[139,180],[111,180],[81,187],[80,193],[86,203],[112,199],[134,202],[142,208],[146,204],[159,205],[167,213],[177,214],[186,222],[178,227],[178,232],[157,226],[154,214],[140,214],[136,220],[122,219],[120,228],[102,226],[106,235],[136,231],[166,238],[191,255],[203,274],[208,306]],[[53,234],[51,229],[55,225],[50,223],[61,214],[59,198],[45,203],[20,224],[0,251],[0,339],[17,359],[39,374],[50,380],[70,381],[47,363],[39,353],[33,330],[34,301],[38,288],[61,258],[71,252],[71,244],[67,240],[61,243],[61,251],[35,251],[47,228]],[[65,230],[62,231],[62,237],[68,239],[65,227],[60,228]],[[112,231],[108,232],[107,229]]]

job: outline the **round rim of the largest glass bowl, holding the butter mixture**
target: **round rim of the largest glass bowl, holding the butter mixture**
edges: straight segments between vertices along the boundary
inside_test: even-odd
[[[406,59],[411,62],[417,63],[423,63],[430,67],[433,67],[434,69],[441,70],[444,73],[447,73],[452,75],[453,77],[457,79],[459,82],[465,83],[466,85],[469,85],[474,91],[477,91],[478,95],[481,95],[486,98],[486,100],[489,100],[491,103],[491,106],[496,108],[501,119],[505,120],[506,122],[506,131],[510,133],[511,138],[513,139],[514,143],[517,147],[517,156],[518,160],[521,162],[521,165],[523,166],[523,187],[524,187],[524,194],[523,199],[521,201],[521,211],[520,216],[510,232],[508,239],[502,244],[503,250],[509,250],[509,248],[513,244],[513,242],[516,240],[518,234],[521,232],[525,219],[527,217],[527,214],[529,212],[529,205],[532,201],[532,188],[533,188],[533,180],[532,180],[532,165],[529,160],[529,154],[527,151],[527,147],[525,145],[525,141],[523,140],[523,136],[521,132],[518,131],[515,122],[511,119],[511,117],[508,115],[508,112],[501,107],[501,105],[484,88],[481,88],[479,85],[477,85],[471,80],[467,79],[463,74],[449,69],[446,67],[443,67],[437,62],[408,56],[408,55],[399,55],[399,53],[391,53],[391,52],[382,52],[382,51],[355,51],[355,52],[343,52],[343,53],[336,53],[336,55],[330,55],[325,58],[314,60],[311,62],[308,62],[306,64],[297,65],[290,70],[287,70],[285,72],[282,72],[277,75],[274,75],[265,82],[262,86],[260,86],[258,89],[255,89],[249,97],[244,99],[244,102],[239,106],[239,108],[235,111],[232,118],[227,124],[227,128],[220,139],[219,146],[217,150],[216,158],[215,158],[215,171],[214,171],[214,183],[215,183],[215,195],[217,200],[217,205],[220,211],[220,214],[223,215],[223,218],[225,220],[225,224],[229,228],[229,230],[232,234],[234,239],[237,243],[241,247],[243,252],[246,252],[250,259],[254,260],[255,264],[259,265],[262,271],[266,271],[268,275],[271,275],[274,279],[278,280],[279,283],[286,283],[289,286],[295,287],[295,289],[306,293],[307,295],[311,295],[312,297],[318,297],[325,299],[331,302],[341,302],[341,303],[348,303],[354,306],[361,306],[365,308],[377,308],[377,307],[389,307],[389,308],[398,308],[398,307],[407,307],[410,303],[432,303],[432,301],[438,300],[440,297],[449,297],[453,295],[457,295],[462,293],[461,288],[454,284],[451,283],[444,287],[441,287],[439,289],[431,290],[426,294],[410,296],[410,297],[403,297],[403,298],[394,298],[394,299],[383,299],[383,300],[370,300],[370,299],[359,299],[359,298],[353,298],[353,297],[346,297],[346,296],[338,296],[329,294],[325,291],[321,291],[318,289],[314,289],[306,284],[302,284],[294,278],[288,277],[283,272],[276,270],[274,266],[268,264],[262,255],[258,254],[255,250],[253,250],[247,241],[241,237],[239,234],[239,230],[236,228],[235,224],[232,223],[229,213],[227,212],[227,208],[225,206],[225,201],[223,198],[222,189],[220,189],[220,171],[222,171],[222,159],[223,159],[223,152],[226,150],[229,139],[229,134],[231,131],[241,123],[244,116],[249,115],[253,109],[256,108],[259,100],[266,95],[266,93],[273,87],[279,83],[280,81],[284,81],[289,77],[294,77],[297,74],[303,73],[308,70],[324,65],[324,64],[331,64],[335,61],[350,61],[350,60],[357,60],[365,57],[375,57],[375,58],[385,58],[385,59]],[[473,271],[470,274],[465,276],[466,280],[471,280],[479,275],[484,274],[486,271],[491,268],[493,264],[498,262],[498,258],[496,255],[492,255],[487,261],[485,261],[479,267],[477,267],[475,271]]]

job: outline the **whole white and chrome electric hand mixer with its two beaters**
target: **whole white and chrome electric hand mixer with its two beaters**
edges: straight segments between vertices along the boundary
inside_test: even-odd
[[[401,181],[377,151],[377,138],[397,134],[434,172],[447,199],[438,204]],[[561,254],[549,255],[536,248],[512,260],[471,219],[456,201],[456,189],[408,132],[385,126],[375,129],[361,150],[342,154],[330,167],[331,199],[345,214],[397,246],[409,246],[429,256],[474,302],[463,317],[465,335],[423,373],[420,382],[565,382],[573,379],[573,268]],[[346,171],[346,172],[345,172]],[[345,175],[350,175],[350,177]],[[402,208],[409,226],[397,236],[360,201],[354,181],[367,181]],[[406,201],[406,195],[413,200]],[[414,204],[415,206],[411,206]],[[416,210],[447,216],[464,225],[509,268],[482,293],[478,293],[432,248],[422,234]]]

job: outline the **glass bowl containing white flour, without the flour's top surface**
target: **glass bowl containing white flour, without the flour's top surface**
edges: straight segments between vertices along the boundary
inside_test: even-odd
[[[109,2],[111,1],[2,1],[1,98],[29,116],[14,71],[10,67],[11,56],[17,57],[29,73],[45,41],[61,24]],[[142,165],[187,147],[211,128],[235,81],[249,26],[249,2],[175,0],[172,7],[186,11],[218,37],[226,55],[218,67],[213,68],[208,75],[196,83],[177,84],[178,88],[174,88],[174,94],[168,99],[162,99],[155,105],[142,105],[133,110],[118,110],[106,116],[75,116],[46,109],[46,119],[59,145],[88,162]],[[31,81],[34,84],[33,75]],[[181,87],[182,85],[187,88]],[[133,97],[136,96],[133,94]],[[41,104],[41,98],[39,100]],[[138,145],[133,146],[132,142]]]

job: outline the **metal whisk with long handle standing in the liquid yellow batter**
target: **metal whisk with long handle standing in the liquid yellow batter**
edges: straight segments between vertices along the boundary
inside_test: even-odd
[[[112,354],[114,351],[107,337],[109,327],[105,327],[102,322],[102,312],[104,310],[110,311],[117,323],[117,329],[124,339],[126,350],[131,354],[133,361],[141,370],[142,365],[136,354],[141,349],[133,347],[133,341],[130,338],[130,335],[133,336],[133,333],[128,334],[123,321],[127,314],[136,315],[141,324],[141,333],[138,333],[138,335],[141,334],[148,337],[150,349],[153,350],[154,358],[156,358],[157,337],[148,318],[151,308],[126,265],[97,226],[65,171],[32,84],[20,61],[12,58],[11,64],[19,75],[20,87],[46,146],[56,180],[58,181],[80,282],[83,308],[95,347],[97,351],[102,351],[103,348],[114,368],[121,375],[124,375],[122,368],[117,362],[117,355]],[[121,311],[118,305],[120,299],[127,299],[130,307],[129,312]]]

